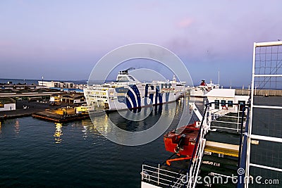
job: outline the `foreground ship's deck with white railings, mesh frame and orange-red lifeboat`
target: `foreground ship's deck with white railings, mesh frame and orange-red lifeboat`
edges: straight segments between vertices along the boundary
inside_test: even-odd
[[[274,63],[282,62],[281,48],[280,41],[254,43],[250,94],[207,93],[200,126],[164,135],[174,155],[142,163],[141,188],[281,187],[282,66]]]

